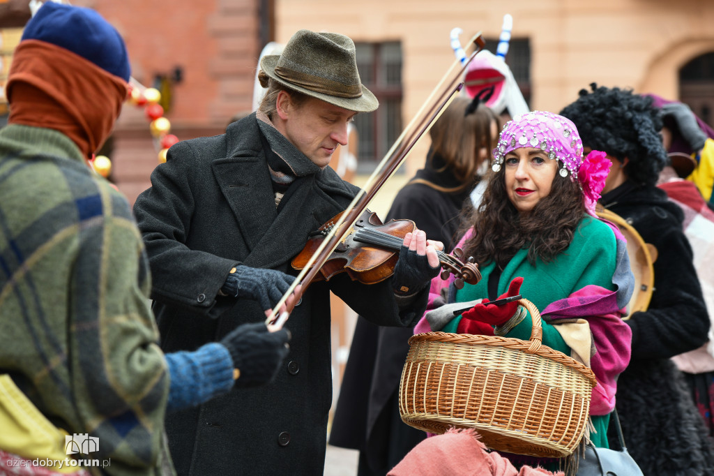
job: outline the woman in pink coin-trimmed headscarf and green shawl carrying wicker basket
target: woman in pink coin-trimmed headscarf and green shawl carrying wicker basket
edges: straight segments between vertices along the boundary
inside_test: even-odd
[[[478,284],[456,289],[434,279],[425,317],[415,332],[501,335],[528,340],[531,316],[521,294],[540,310],[543,344],[590,367],[598,378],[590,403],[595,446],[608,447],[616,380],[630,360],[630,329],[622,321],[633,291],[625,239],[595,215],[610,161],[603,152],[583,158],[573,122],[550,112],[516,116],[493,150],[493,172],[483,201],[468,217],[461,243],[481,269]],[[472,305],[458,317],[453,310]],[[506,455],[514,465],[558,460]]]

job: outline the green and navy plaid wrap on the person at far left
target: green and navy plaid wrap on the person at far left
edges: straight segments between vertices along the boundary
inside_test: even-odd
[[[0,372],[110,475],[161,465],[166,363],[129,205],[50,129],[0,131]],[[100,474],[97,468],[91,468]]]

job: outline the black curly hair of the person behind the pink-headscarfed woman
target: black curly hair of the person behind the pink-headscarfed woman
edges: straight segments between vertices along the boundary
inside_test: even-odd
[[[560,111],[575,123],[583,147],[600,150],[623,162],[625,174],[638,184],[654,185],[667,162],[662,144],[663,122],[652,98],[630,89],[598,87],[580,89],[578,100]]]

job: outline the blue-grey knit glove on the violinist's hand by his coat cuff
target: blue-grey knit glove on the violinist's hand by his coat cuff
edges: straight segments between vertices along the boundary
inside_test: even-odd
[[[255,299],[263,310],[273,309],[295,277],[275,269],[251,268],[245,264],[231,269],[221,291],[229,296]]]

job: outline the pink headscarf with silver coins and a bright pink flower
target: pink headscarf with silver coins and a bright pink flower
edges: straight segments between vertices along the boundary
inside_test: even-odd
[[[605,152],[593,151],[583,160],[583,141],[570,119],[548,111],[531,111],[520,114],[506,123],[501,131],[496,149],[493,149],[493,171],[503,166],[508,152],[521,147],[534,147],[558,159],[562,177],[578,181],[583,190],[585,208],[595,214],[595,203],[605,187],[611,162]]]

